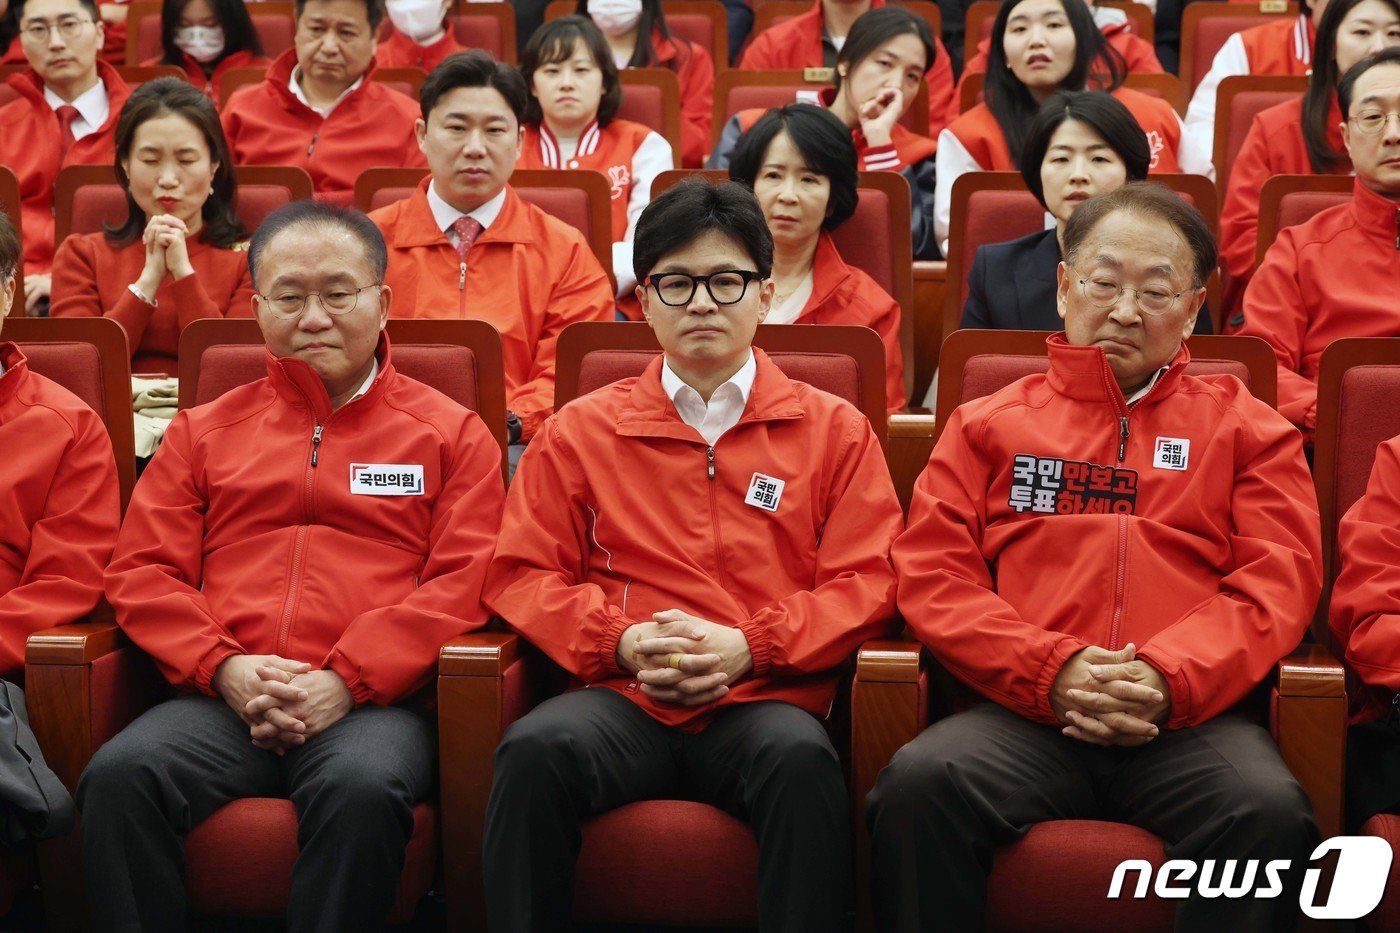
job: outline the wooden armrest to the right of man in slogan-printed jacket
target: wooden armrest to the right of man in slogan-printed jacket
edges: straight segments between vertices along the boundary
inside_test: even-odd
[[[1341,663],[1319,644],[1301,644],[1278,663],[1274,738],[1308,792],[1323,839],[1343,828],[1347,689]]]

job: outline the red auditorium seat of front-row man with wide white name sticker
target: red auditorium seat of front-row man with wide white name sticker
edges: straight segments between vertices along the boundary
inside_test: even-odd
[[[113,324],[104,318],[49,324]],[[501,445],[505,471],[505,388],[501,343],[479,321],[389,321],[395,366],[482,415]],[[125,345],[123,345],[125,350]],[[249,319],[196,321],[181,333],[182,406],[211,401],[266,373],[263,339]],[[129,389],[123,417],[130,427]],[[49,629],[31,636],[27,682],[34,730],[45,756],[71,790],[92,754],[144,709],[169,695],[150,660],[111,621]],[[445,727],[445,724],[444,724]],[[195,828],[185,846],[185,878],[196,915],[277,916],[286,911],[297,857],[297,818],[287,800],[234,801]],[[414,808],[399,894],[391,922],[402,923],[433,884],[438,818],[434,801]],[[77,835],[55,841],[45,860],[50,929],[78,929],[83,897]],[[66,849],[63,846],[67,846]],[[230,853],[238,853],[235,862]],[[57,856],[66,856],[59,860]]]

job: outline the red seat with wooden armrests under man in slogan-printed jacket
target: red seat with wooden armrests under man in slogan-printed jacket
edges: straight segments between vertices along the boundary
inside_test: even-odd
[[[938,426],[959,403],[994,392],[1032,373],[1043,373],[1046,335],[1032,331],[958,331],[939,363]],[[1250,391],[1274,403],[1277,364],[1259,339],[1193,336],[1191,373],[1232,373]],[[881,640],[861,649],[851,692],[851,761],[857,801],[874,786],[879,769],[934,716],[931,695],[945,696],[946,682],[910,640]],[[944,678],[935,691],[934,684]],[[963,700],[966,693],[960,695]],[[953,709],[958,709],[955,703]],[[945,714],[948,709],[938,710]],[[1345,693],[1341,665],[1316,644],[1303,644],[1278,665],[1271,723],[1284,761],[1308,792],[1323,836],[1341,827],[1341,758],[1345,740]],[[858,813],[862,817],[862,813]],[[857,825],[864,825],[858,818]],[[987,929],[1134,930],[1172,926],[1172,906],[1144,901],[1106,901],[1112,866],[1123,859],[1161,864],[1162,841],[1133,827],[1099,821],[1053,821],[1037,825],[997,853],[988,883]],[[1053,883],[1051,883],[1053,880]]]

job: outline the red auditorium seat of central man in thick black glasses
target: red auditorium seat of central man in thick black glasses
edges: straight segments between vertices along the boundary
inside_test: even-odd
[[[855,403],[885,443],[885,350],[874,331],[760,325],[753,343],[792,378]],[[559,339],[556,408],[637,375],[657,353],[644,324],[570,325]],[[483,913],[482,825],[491,752],[505,727],[557,693],[563,681],[559,668],[514,635],[468,635],[442,649],[438,710],[449,927]],[[683,853],[645,846],[644,828],[658,822],[686,825],[690,845]],[[755,866],[752,832],[721,811],[678,800],[633,804],[584,827],[574,916],[595,923],[755,926]],[[676,894],[678,877],[686,878],[683,895]]]

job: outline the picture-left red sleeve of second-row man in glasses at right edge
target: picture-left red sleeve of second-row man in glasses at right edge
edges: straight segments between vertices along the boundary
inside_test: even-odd
[[[1308,304],[1298,284],[1295,227],[1278,231],[1245,291],[1240,333],[1263,338],[1278,357],[1278,412],[1312,437],[1317,424],[1317,384],[1302,375]]]

